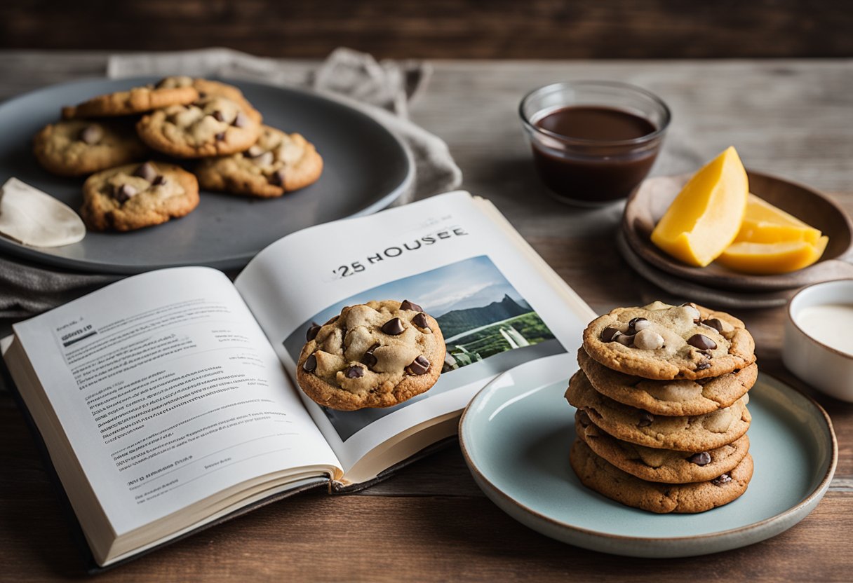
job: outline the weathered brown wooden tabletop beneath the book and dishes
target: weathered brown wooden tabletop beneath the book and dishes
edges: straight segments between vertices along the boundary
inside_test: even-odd
[[[0,53],[0,98],[101,75],[105,55]],[[305,68],[307,62],[294,62]],[[598,312],[661,291],[612,244],[621,209],[579,211],[543,193],[519,127],[525,91],[570,78],[640,84],[674,120],[655,173],[695,170],[734,144],[746,165],[833,193],[853,213],[853,61],[438,61],[413,118],[450,145],[464,186],[493,199]],[[735,311],[759,364],[780,361],[782,309]],[[457,447],[360,494],[305,494],[252,512],[115,569],[113,580],[850,580],[853,405],[806,387],[832,415],[840,454],[832,486],[795,528],[707,557],[612,557],[550,540],[498,510]],[[26,426],[0,395],[0,580],[79,574],[69,529]],[[780,476],[781,480],[785,476]]]

